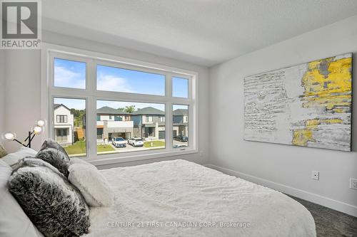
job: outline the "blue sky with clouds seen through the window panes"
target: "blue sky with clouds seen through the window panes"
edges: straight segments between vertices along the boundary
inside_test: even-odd
[[[55,58],[54,85],[65,88],[86,88],[86,63]],[[188,80],[172,78],[173,96],[188,98]],[[97,65],[97,90],[108,90],[126,93],[141,93],[146,95],[165,95],[165,76],[155,73],[144,73],[137,70],[127,70],[104,65]],[[69,108],[83,110],[85,100],[55,98],[55,103],[64,104]],[[98,101],[97,107],[126,107],[135,105],[136,109],[155,107],[163,110],[163,104]],[[176,106],[177,107],[177,106]],[[186,108],[185,106],[177,108]]]

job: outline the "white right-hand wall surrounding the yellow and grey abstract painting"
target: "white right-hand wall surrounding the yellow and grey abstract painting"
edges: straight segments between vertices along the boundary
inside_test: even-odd
[[[211,68],[209,127],[210,144],[215,145],[209,146],[209,163],[357,216],[357,191],[349,189],[350,177],[357,178],[357,130],[353,130],[353,152],[243,141],[244,77],[348,52],[357,53],[357,16]],[[353,67],[357,68],[357,60]],[[353,77],[356,81],[357,70]],[[357,124],[356,115],[353,123]],[[311,179],[312,170],[320,172],[319,181]]]

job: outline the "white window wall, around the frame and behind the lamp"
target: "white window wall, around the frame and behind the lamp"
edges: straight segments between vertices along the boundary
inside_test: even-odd
[[[109,53],[114,56],[144,60],[150,63],[159,63],[175,68],[196,71],[198,72],[198,100],[200,101],[198,116],[208,117],[208,68],[206,67],[81,38],[63,36],[48,31],[43,32],[42,36],[43,41],[46,43],[55,43],[61,46],[80,48],[88,51]],[[40,51],[8,51],[6,52],[6,67],[6,97],[9,98],[9,100],[6,101],[6,127],[11,131],[16,132],[19,137],[24,137],[26,131],[28,131],[31,128],[31,125],[33,125],[41,116]],[[206,164],[206,157],[208,157],[208,121],[201,120],[198,127],[200,131],[199,149],[201,150],[201,155],[199,153],[186,154],[184,156],[167,157],[164,159],[189,159],[194,162]],[[14,151],[17,147],[19,147],[19,145],[14,142],[6,142],[6,149],[9,151]],[[36,137],[34,139],[34,148],[39,149],[39,147],[41,147],[40,138]],[[159,160],[163,159],[156,159],[156,161]],[[125,164],[120,165],[141,163],[144,162],[126,162]]]

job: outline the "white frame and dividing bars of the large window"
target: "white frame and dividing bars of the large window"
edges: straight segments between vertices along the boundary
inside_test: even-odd
[[[198,73],[172,68],[166,65],[148,63],[141,60],[133,60],[112,56],[104,53],[84,51],[65,46],[56,46],[43,43],[41,51],[41,116],[47,121],[48,129],[41,135],[44,140],[47,137],[54,137],[54,98],[73,98],[86,100],[86,157],[87,161],[101,165],[114,164],[118,162],[129,162],[140,159],[153,159],[159,157],[171,157],[182,154],[198,152]],[[78,88],[57,88],[54,87],[54,58],[74,60],[86,63],[86,89]],[[108,65],[116,68],[127,68],[140,70],[146,73],[156,73],[165,75],[165,95],[146,95],[136,93],[122,93],[96,90],[96,65]],[[188,79],[188,98],[174,98],[172,96],[172,78]],[[166,127],[166,148],[147,150],[145,152],[120,152],[112,154],[97,154],[96,152],[96,100],[124,101],[124,102],[154,102],[165,104],[165,127]],[[172,105],[189,105],[188,117],[189,126],[188,147],[176,150],[172,141]],[[190,129],[191,127],[191,129]]]

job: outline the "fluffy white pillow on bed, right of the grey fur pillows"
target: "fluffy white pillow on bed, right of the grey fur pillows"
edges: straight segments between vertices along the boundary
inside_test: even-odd
[[[89,206],[111,206],[114,201],[111,186],[93,164],[86,163],[69,166],[69,181],[81,191]]]

